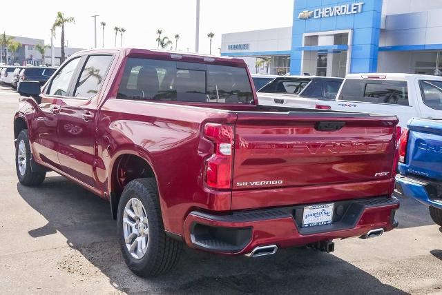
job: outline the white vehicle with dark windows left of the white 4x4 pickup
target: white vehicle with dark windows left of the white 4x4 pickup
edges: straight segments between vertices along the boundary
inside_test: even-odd
[[[320,101],[334,101],[343,78],[316,76],[278,77],[258,90],[260,105],[316,108]]]

